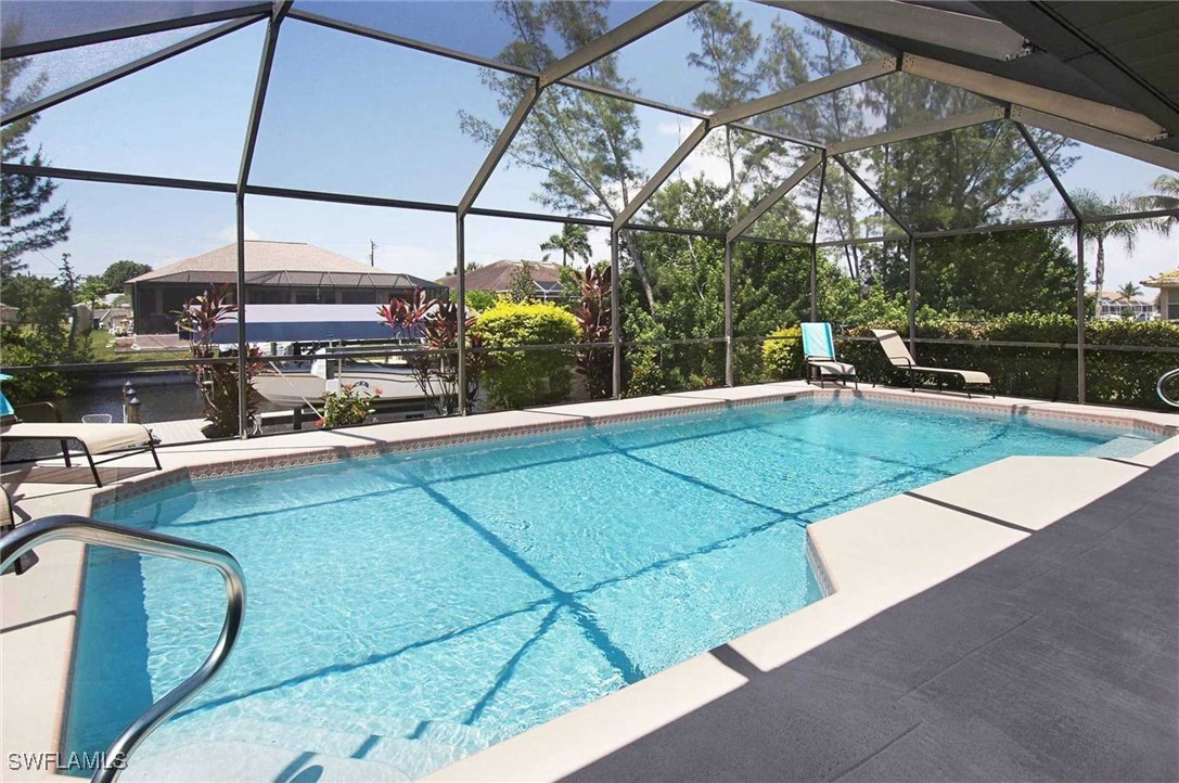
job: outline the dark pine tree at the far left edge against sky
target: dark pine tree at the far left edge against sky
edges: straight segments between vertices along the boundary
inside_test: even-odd
[[[28,68],[27,59],[5,60],[0,64],[0,108],[8,113],[26,106],[45,88],[47,74],[41,73],[18,87]],[[44,166],[41,149],[29,151],[28,132],[37,124],[37,114],[19,119],[0,130],[4,164]],[[8,278],[25,268],[20,258],[26,252],[47,250],[70,237],[70,217],[59,206],[47,215],[41,212],[53,199],[57,184],[44,177],[12,173],[0,175],[0,278]]]

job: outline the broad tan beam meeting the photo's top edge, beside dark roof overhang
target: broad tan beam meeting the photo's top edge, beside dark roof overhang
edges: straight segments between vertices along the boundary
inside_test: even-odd
[[[993,60],[1025,53],[1023,35],[997,21],[909,2],[880,0],[762,0],[804,17],[852,25],[888,35],[918,38],[935,46]]]

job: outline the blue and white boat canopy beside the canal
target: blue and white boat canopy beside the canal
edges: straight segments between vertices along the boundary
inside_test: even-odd
[[[185,335],[191,336],[191,335]],[[335,340],[417,340],[421,328],[393,329],[375,304],[251,304],[245,342],[331,342]],[[237,342],[237,314],[213,333],[218,344]]]

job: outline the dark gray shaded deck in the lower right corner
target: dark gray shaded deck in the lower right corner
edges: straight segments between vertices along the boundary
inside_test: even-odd
[[[567,779],[1174,781],[1177,726],[1172,456]]]

